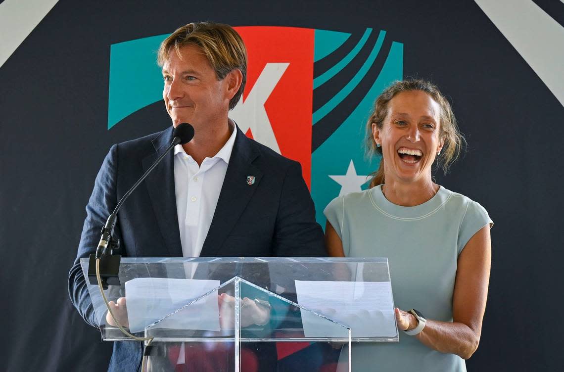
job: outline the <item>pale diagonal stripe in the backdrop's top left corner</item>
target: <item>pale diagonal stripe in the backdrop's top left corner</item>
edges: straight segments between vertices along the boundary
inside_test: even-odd
[[[0,3],[0,67],[59,0],[5,0]]]

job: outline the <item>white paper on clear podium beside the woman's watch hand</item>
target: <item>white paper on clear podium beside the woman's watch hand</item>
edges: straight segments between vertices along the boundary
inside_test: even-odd
[[[397,335],[390,282],[296,280],[298,304],[351,329],[351,337]],[[328,336],[325,321],[301,310],[306,337]],[[329,335],[331,336],[331,335]]]

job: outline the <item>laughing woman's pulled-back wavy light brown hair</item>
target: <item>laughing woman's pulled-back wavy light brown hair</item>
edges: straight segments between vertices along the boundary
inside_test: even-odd
[[[374,154],[382,156],[382,148],[376,146],[374,136],[372,135],[372,124],[376,124],[378,129],[384,127],[384,121],[388,114],[388,103],[398,93],[409,91],[421,91],[430,95],[440,106],[440,124],[439,124],[439,139],[444,140],[443,149],[440,155],[437,156],[437,162],[442,167],[446,174],[448,168],[455,161],[461,152],[462,147],[466,141],[456,125],[455,114],[452,112],[451,104],[444,95],[439,91],[439,88],[429,81],[422,79],[406,79],[402,81],[395,81],[387,87],[378,96],[374,102],[374,110],[370,114],[366,123],[366,138],[365,145],[367,154],[372,157]],[[378,170],[371,174],[370,187],[382,184],[384,179],[384,157],[380,160],[380,167]]]

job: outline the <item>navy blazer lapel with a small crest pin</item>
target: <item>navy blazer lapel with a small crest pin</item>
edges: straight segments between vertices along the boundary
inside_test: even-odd
[[[217,255],[262,179],[263,172],[252,165],[255,158],[259,156],[258,150],[252,147],[250,140],[241,132],[239,127],[236,130],[235,144],[208,236],[206,236],[200,253],[201,257]],[[247,184],[248,176],[255,177],[254,184]]]

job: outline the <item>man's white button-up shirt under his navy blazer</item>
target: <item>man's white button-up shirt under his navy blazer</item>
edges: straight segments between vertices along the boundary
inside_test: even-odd
[[[184,257],[199,257],[208,236],[237,134],[235,124],[232,121],[229,124],[230,138],[213,158],[205,158],[201,166],[182,145],[174,147],[174,188]]]

